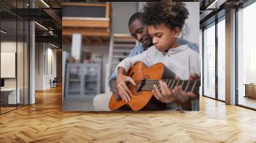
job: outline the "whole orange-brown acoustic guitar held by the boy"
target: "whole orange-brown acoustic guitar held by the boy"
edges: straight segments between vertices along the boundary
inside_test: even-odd
[[[156,63],[150,67],[139,61],[129,70],[127,76],[132,77],[136,86],[128,83],[132,96],[129,102],[116,100],[112,94],[109,101],[109,109],[126,109],[126,110],[164,110],[166,103],[162,103],[154,98],[152,90],[154,85],[159,88],[159,80],[166,82],[170,89],[182,86],[186,92],[198,94],[200,80],[175,80],[175,73],[166,68],[163,63]],[[125,108],[124,108],[125,107]]]

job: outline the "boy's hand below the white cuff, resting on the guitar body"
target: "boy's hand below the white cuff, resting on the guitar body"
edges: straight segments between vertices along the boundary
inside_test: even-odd
[[[120,94],[122,100],[125,102],[129,102],[131,100],[132,93],[130,89],[126,86],[127,82],[131,82],[134,86],[136,86],[136,83],[131,77],[128,77],[124,75],[125,70],[122,67],[120,70],[118,70],[118,76],[116,79],[116,87],[118,89],[118,93]]]

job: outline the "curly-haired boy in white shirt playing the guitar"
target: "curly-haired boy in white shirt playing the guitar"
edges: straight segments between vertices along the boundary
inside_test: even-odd
[[[184,3],[165,1],[147,3],[144,6],[143,23],[148,26],[148,33],[154,46],[137,56],[124,59],[116,66],[118,72],[117,89],[122,100],[125,100],[125,102],[131,100],[131,91],[129,91],[125,82],[131,82],[134,85],[135,82],[131,77],[127,77],[125,73],[137,61],[142,61],[147,66],[163,63],[182,80],[188,80],[189,75],[200,75],[198,52],[189,49],[188,45],[180,45],[177,41],[188,15]],[[166,89],[166,84],[163,84],[163,82],[160,84],[161,92],[156,88],[153,91],[157,100],[161,102],[168,101],[172,104],[177,103],[185,110],[199,110],[198,100],[189,99],[193,96],[192,93],[184,93],[180,87],[170,91],[170,89]],[[163,97],[170,98],[170,100],[163,100]]]

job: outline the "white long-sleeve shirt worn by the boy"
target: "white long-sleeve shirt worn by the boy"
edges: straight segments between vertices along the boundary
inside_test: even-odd
[[[188,45],[169,49],[168,52],[159,52],[153,45],[137,56],[125,58],[116,66],[115,70],[117,72],[118,67],[122,66],[127,72],[137,61],[142,61],[147,66],[163,63],[166,68],[172,70],[182,80],[188,80],[192,73],[200,75],[199,54],[195,50],[189,49]],[[192,110],[199,110],[199,101],[192,100],[191,108]]]

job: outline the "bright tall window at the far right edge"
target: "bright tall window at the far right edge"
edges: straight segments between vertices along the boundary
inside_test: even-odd
[[[247,96],[246,84],[256,83],[255,13],[256,3],[237,11],[237,100],[239,105],[253,109],[256,109],[256,100]]]

